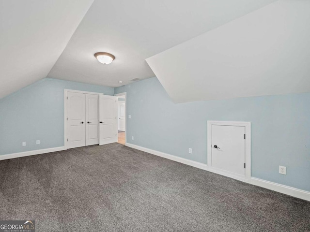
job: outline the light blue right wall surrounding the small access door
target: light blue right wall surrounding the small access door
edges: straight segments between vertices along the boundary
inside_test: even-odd
[[[156,77],[122,92],[127,143],[206,163],[207,120],[250,121],[252,176],[310,191],[310,93],[175,104]]]

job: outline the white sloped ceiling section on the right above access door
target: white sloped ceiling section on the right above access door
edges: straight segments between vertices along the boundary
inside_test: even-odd
[[[279,0],[147,59],[174,102],[310,92],[310,1]]]

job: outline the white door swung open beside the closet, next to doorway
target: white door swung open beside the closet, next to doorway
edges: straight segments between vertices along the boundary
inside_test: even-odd
[[[99,145],[117,142],[117,97],[99,95]]]

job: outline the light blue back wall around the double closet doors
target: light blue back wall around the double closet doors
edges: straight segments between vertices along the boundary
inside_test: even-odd
[[[114,94],[112,87],[45,78],[0,99],[0,155],[64,145],[65,88]]]

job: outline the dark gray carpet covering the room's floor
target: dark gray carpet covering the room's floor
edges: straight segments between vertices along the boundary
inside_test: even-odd
[[[310,202],[124,145],[0,161],[0,220],[36,232],[310,231]]]

